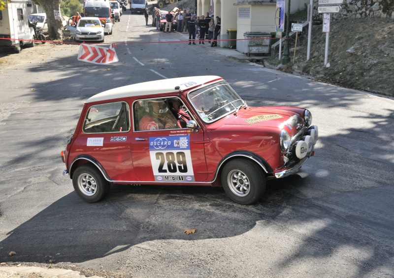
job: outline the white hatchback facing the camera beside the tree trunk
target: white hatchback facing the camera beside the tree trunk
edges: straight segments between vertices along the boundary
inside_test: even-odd
[[[98,17],[81,17],[77,25],[68,21],[67,30],[75,41],[104,42],[104,28]]]

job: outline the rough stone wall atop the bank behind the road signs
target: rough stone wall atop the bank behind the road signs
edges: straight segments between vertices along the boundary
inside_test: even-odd
[[[317,8],[319,0],[313,0],[313,17],[321,19]],[[334,19],[342,18],[388,18],[394,19],[394,0],[344,0],[339,13],[333,13]]]

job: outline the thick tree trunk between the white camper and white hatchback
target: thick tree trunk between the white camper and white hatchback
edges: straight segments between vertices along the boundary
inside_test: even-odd
[[[46,13],[49,39],[63,39],[62,20],[55,19],[54,13],[54,10],[60,12],[61,1],[62,0],[37,0]]]

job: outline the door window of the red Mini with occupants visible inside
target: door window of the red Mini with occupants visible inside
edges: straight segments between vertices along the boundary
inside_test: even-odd
[[[160,130],[181,128],[168,107],[168,98],[152,98],[133,104],[134,130]]]

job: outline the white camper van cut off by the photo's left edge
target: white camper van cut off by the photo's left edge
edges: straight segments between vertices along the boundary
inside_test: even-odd
[[[32,1],[10,0],[5,9],[0,11],[0,46],[12,47],[17,53],[21,46],[34,46],[34,30],[28,21],[29,13],[33,12]]]

